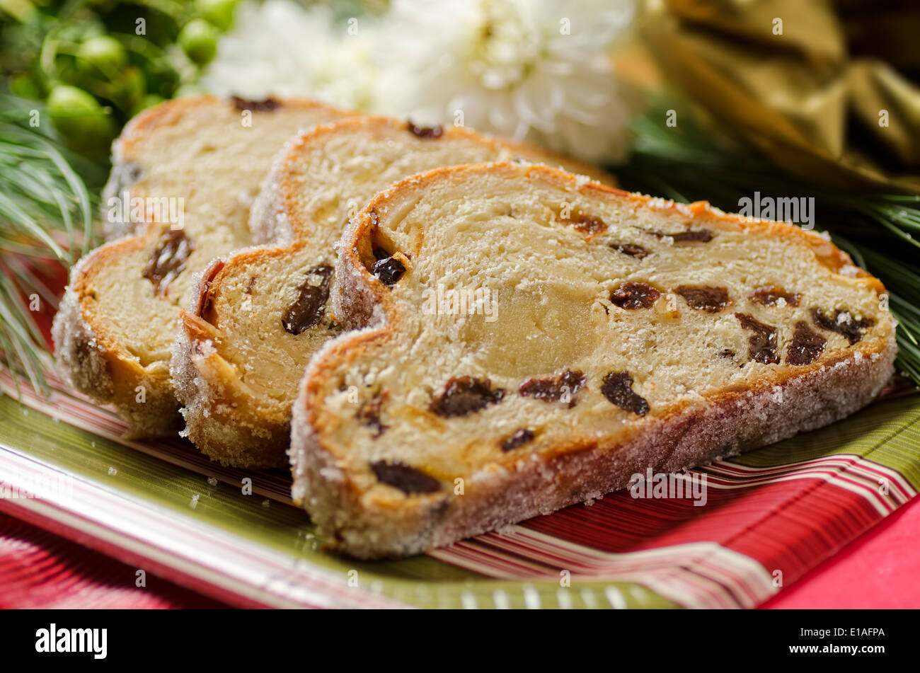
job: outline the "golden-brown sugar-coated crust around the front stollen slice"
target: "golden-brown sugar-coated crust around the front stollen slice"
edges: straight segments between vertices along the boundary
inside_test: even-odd
[[[484,171],[536,178],[595,197],[615,196],[638,204],[705,216],[709,224],[791,237],[808,245],[815,261],[834,271],[849,257],[818,234],[776,222],[762,222],[715,211],[705,203],[689,206],[654,200],[597,184],[577,184],[545,166],[511,164],[443,168],[408,178],[379,194],[355,218],[343,238],[338,273],[342,282],[340,316],[361,331],[339,337],[312,360],[293,407],[291,460],[295,501],[302,502],[329,545],[362,558],[420,553],[431,547],[557,508],[602,496],[627,485],[633,473],[674,472],[754,449],[798,432],[820,428],[867,405],[888,382],[896,353],[893,329],[876,345],[863,344],[835,359],[763,375],[743,388],[710,394],[702,405],[675,404],[656,410],[624,431],[615,445],[572,438],[538,461],[505,454],[489,465],[481,484],[466,485],[462,498],[449,494],[404,496],[395,489],[365,490],[350,471],[350,455],[331,441],[339,418],[325,412],[324,399],[336,373],[385,344],[402,329],[392,292],[374,279],[366,262],[378,212],[404,193],[424,192],[445,176],[473,178]],[[882,293],[878,279],[865,272],[845,278]]]

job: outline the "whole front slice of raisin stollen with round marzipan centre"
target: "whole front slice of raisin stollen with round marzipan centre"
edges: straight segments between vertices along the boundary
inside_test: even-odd
[[[819,428],[893,370],[884,288],[822,236],[544,166],[400,182],[336,273],[363,329],[305,373],[293,496],[362,558]]]

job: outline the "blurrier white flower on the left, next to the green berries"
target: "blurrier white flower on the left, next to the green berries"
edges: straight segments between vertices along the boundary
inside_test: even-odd
[[[373,109],[369,31],[349,28],[332,20],[327,6],[247,3],[237,11],[234,29],[220,40],[201,85],[222,96],[312,97],[343,108]]]

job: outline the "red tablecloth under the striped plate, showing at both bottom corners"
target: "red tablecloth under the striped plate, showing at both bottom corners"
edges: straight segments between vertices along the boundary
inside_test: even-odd
[[[764,608],[920,608],[920,497]],[[224,608],[155,576],[0,514],[0,608]]]

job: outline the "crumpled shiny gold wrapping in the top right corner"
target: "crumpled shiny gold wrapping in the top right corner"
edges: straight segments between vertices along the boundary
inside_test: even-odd
[[[920,191],[920,3],[649,0],[664,73],[793,173]]]

